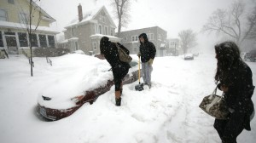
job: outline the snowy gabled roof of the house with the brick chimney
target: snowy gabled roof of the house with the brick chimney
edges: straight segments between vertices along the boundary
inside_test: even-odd
[[[79,21],[79,18],[75,18],[74,20],[72,20],[65,28],[68,28],[70,26],[79,26],[79,25],[83,25],[83,24],[86,24],[86,23],[89,23],[89,22],[96,22],[95,17],[96,15],[102,11],[102,9],[105,11],[106,15],[108,16],[108,19],[110,20],[112,26],[116,27],[110,14],[108,14],[108,10],[106,9],[105,6],[102,6],[102,7],[98,7],[96,9],[91,9],[91,10],[88,10],[86,11],[84,14],[83,14],[83,20]]]

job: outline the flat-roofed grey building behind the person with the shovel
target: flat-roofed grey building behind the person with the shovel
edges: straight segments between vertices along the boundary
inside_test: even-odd
[[[140,46],[138,36],[141,33],[146,33],[148,41],[154,43],[156,56],[166,56],[167,31],[161,29],[159,26],[122,31],[120,33],[120,37],[122,38],[121,43],[130,50],[131,54],[137,54]]]

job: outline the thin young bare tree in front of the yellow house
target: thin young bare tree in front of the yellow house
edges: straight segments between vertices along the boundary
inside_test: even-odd
[[[40,0],[38,0],[40,1]],[[26,11],[25,9],[22,9],[22,14],[20,15],[20,19],[22,20],[22,26],[26,27],[26,31],[28,33],[28,46],[30,48],[30,65],[31,65],[31,76],[33,76],[33,60],[32,60],[32,34],[34,34],[39,26],[39,23],[41,21],[41,10],[40,8],[37,6],[37,2],[38,1],[29,1],[29,9],[28,11]],[[38,19],[36,19],[35,14],[38,13]]]

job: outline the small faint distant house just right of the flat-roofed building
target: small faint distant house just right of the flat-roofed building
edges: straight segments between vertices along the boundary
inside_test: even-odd
[[[181,43],[178,38],[167,39],[166,55],[179,55],[183,54]]]

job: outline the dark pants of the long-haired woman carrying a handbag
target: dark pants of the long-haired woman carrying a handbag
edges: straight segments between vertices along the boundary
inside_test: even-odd
[[[233,112],[228,120],[215,119],[214,128],[223,143],[236,143],[236,138],[244,129],[245,113]]]

